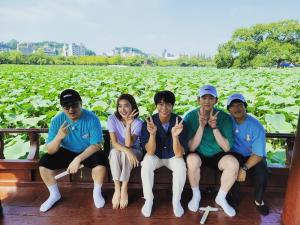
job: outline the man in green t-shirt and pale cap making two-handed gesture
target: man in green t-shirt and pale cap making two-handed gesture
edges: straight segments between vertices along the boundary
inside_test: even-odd
[[[189,112],[184,118],[190,149],[187,156],[188,178],[193,191],[188,208],[193,212],[199,209],[200,167],[206,165],[222,171],[221,186],[215,201],[227,215],[235,216],[236,212],[228,204],[226,195],[236,181],[239,163],[229,152],[233,144],[231,118],[227,113],[214,108],[217,100],[215,87],[204,85],[198,94],[200,108]]]

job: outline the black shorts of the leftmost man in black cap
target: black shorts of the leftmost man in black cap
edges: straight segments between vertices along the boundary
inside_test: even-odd
[[[46,153],[39,161],[39,166],[43,166],[50,170],[65,169],[73,161],[73,159],[80,153],[69,151],[60,147],[54,154]],[[82,161],[82,164],[88,168],[94,168],[96,166],[108,166],[108,158],[105,152],[97,151],[87,159]]]

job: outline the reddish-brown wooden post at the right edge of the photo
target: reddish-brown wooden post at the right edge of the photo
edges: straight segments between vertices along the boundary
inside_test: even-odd
[[[284,225],[300,224],[300,113],[289,171],[288,186],[284,199],[282,220]]]

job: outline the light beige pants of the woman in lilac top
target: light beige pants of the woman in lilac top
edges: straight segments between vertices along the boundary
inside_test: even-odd
[[[141,160],[142,158],[141,150],[132,149],[132,152],[136,155],[138,160]],[[109,158],[110,171],[113,180],[118,180],[121,182],[129,181],[132,167],[129,163],[126,154],[124,152],[121,152],[113,148],[110,150],[108,158]]]

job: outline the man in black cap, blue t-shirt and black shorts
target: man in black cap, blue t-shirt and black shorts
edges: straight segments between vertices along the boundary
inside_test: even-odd
[[[39,162],[41,177],[50,192],[40,211],[46,212],[61,198],[54,170],[67,168],[69,173],[76,173],[81,164],[92,169],[94,203],[97,208],[102,208],[105,200],[101,186],[108,159],[101,150],[100,121],[93,112],[82,109],[81,97],[73,89],[66,89],[60,94],[60,105],[62,112],[51,120],[47,153]]]

